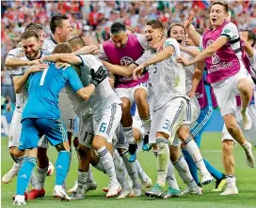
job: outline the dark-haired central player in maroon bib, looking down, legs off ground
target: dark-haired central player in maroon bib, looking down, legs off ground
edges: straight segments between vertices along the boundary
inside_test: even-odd
[[[148,49],[144,36],[139,34],[127,34],[126,26],[120,22],[114,22],[110,27],[110,39],[106,40],[99,51],[99,58],[111,64],[128,67],[143,51]],[[147,102],[147,82],[149,74],[146,72],[135,81],[132,72],[111,71],[115,77],[116,93],[122,101],[121,124],[124,135],[129,142],[129,161],[136,160],[136,141],[133,135],[133,119],[130,112],[131,106],[136,102],[138,113],[145,129],[145,141],[150,132],[150,109]],[[128,74],[128,76],[127,76]],[[127,77],[126,77],[127,76]]]

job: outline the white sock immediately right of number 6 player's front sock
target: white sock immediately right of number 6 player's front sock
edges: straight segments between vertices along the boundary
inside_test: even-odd
[[[115,171],[117,173],[117,179],[120,183],[121,187],[126,186],[126,179],[125,179],[125,174],[123,172],[123,168],[120,164],[120,154],[117,151],[117,149],[113,150],[113,161],[114,161],[114,165],[115,165]]]

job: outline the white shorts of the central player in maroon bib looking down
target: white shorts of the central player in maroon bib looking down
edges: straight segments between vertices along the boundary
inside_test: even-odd
[[[135,91],[138,88],[145,89],[147,92],[147,95],[149,95],[148,82],[142,82],[136,85],[135,87],[131,87],[131,88],[116,88],[115,92],[119,98],[127,97],[130,100],[131,105],[133,105],[135,102]]]

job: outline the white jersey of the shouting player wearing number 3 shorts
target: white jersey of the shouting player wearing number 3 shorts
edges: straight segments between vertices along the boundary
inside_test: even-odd
[[[154,67],[155,71],[151,72],[153,111],[161,109],[174,97],[186,97],[185,70],[183,65],[176,62],[181,56],[179,43],[176,39],[168,38],[164,48],[167,46],[173,46],[174,53],[166,60],[157,63]],[[154,54],[152,50],[145,52],[136,60],[136,64],[150,60]]]

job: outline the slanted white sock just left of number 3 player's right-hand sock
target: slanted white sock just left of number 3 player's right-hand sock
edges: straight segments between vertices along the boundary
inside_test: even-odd
[[[194,181],[189,171],[188,165],[184,160],[184,156],[181,156],[177,161],[173,162],[173,166],[179,172],[179,175],[187,186],[189,186],[191,182]]]

